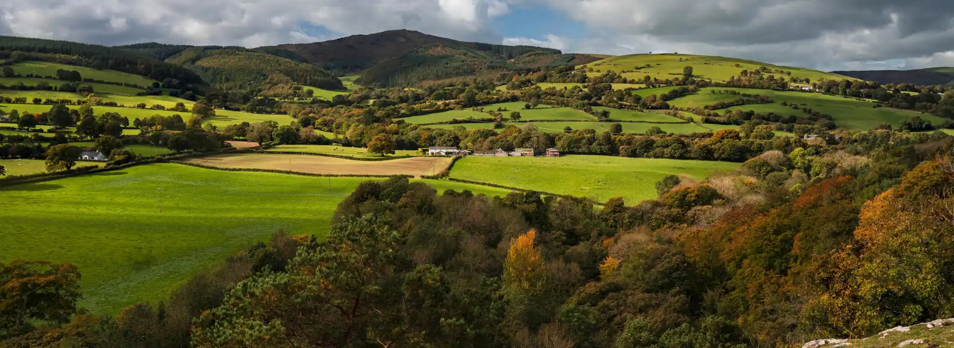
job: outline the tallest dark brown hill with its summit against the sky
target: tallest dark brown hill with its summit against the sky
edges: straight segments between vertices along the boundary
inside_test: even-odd
[[[255,50],[339,74],[363,72],[358,82],[381,87],[510,70],[575,66],[599,59],[532,46],[463,42],[404,30]]]

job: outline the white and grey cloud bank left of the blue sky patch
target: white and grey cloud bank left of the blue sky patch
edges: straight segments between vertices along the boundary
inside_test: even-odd
[[[156,41],[257,47],[394,29],[500,42],[502,0],[32,0],[0,2],[0,33],[104,45]],[[324,38],[324,37],[321,37]]]

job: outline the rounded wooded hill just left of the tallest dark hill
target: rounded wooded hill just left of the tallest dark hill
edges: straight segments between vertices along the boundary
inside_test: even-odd
[[[221,90],[264,91],[277,84],[289,83],[344,90],[338,77],[321,68],[239,47],[190,48],[169,57],[166,62],[197,72],[210,85]]]

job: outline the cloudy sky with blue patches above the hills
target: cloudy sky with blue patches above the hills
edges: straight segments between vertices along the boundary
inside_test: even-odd
[[[952,0],[0,0],[0,34],[100,45],[254,48],[396,29],[822,71],[954,66]]]

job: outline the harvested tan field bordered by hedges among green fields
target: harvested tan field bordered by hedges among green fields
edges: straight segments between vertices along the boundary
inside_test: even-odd
[[[414,157],[359,161],[307,154],[218,154],[188,158],[182,162],[216,168],[264,169],[307,174],[421,176],[446,170],[450,165],[450,158]]]

